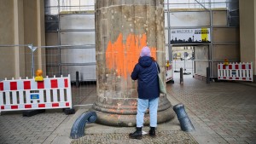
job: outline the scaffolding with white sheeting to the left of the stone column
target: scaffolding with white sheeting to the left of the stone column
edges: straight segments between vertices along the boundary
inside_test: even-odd
[[[81,81],[96,81],[94,19],[93,0],[45,0],[46,53],[60,55],[49,60],[48,72],[78,71]]]

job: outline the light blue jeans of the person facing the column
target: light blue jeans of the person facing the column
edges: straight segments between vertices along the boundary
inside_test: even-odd
[[[149,108],[149,117],[150,117],[150,126],[157,126],[157,108],[158,108],[158,100],[155,99],[137,99],[137,127],[143,127],[144,123],[144,115],[147,109]]]

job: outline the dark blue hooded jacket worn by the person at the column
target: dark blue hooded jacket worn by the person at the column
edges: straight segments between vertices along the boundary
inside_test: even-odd
[[[158,82],[158,64],[149,56],[140,57],[133,72],[131,79],[137,80],[137,92],[139,99],[154,99],[159,97],[160,89]]]

